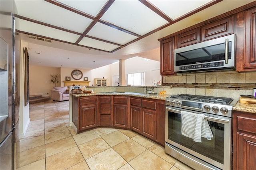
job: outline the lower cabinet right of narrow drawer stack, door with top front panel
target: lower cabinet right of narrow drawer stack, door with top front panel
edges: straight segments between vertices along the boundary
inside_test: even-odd
[[[114,127],[130,128],[130,97],[114,96]]]

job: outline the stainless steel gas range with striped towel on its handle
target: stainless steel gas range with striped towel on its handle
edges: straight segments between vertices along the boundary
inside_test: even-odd
[[[232,98],[187,94],[167,97],[166,153],[194,169],[230,170],[232,108],[236,102]],[[201,122],[205,122],[202,125],[208,127],[212,136],[205,137],[202,128],[198,142],[198,130],[194,129],[198,125],[201,128]],[[190,136],[184,134],[186,131]]]

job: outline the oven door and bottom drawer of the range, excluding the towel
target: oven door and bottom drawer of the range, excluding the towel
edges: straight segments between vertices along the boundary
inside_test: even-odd
[[[182,110],[191,112],[187,109],[166,106],[166,153],[195,169],[230,170],[232,118],[204,113],[213,138],[207,140],[202,137],[202,143],[198,143],[181,133]],[[198,111],[192,112],[202,114]]]

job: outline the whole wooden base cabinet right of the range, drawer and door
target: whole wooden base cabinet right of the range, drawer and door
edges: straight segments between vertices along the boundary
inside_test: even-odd
[[[256,169],[256,114],[234,111],[233,170]]]

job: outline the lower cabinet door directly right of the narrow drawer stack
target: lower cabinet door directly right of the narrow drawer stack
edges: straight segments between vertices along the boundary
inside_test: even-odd
[[[126,127],[127,125],[127,105],[114,104],[114,126]]]

